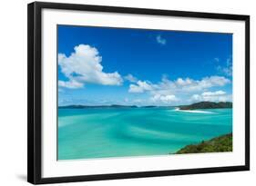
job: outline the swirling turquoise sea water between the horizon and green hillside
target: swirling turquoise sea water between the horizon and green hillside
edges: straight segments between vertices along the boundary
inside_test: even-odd
[[[58,110],[58,160],[166,155],[232,132],[232,109],[187,113],[174,108]]]

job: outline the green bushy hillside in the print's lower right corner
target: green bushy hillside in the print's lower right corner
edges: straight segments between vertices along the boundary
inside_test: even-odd
[[[221,135],[209,141],[202,141],[199,144],[189,144],[175,153],[202,152],[232,152],[232,133]]]

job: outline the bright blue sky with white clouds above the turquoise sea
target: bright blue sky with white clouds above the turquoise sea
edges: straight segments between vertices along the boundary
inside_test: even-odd
[[[232,100],[232,34],[58,25],[58,103]]]

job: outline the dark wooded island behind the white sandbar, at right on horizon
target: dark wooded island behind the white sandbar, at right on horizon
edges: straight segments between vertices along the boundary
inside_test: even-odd
[[[232,108],[231,102],[200,102],[178,106],[180,110]]]

